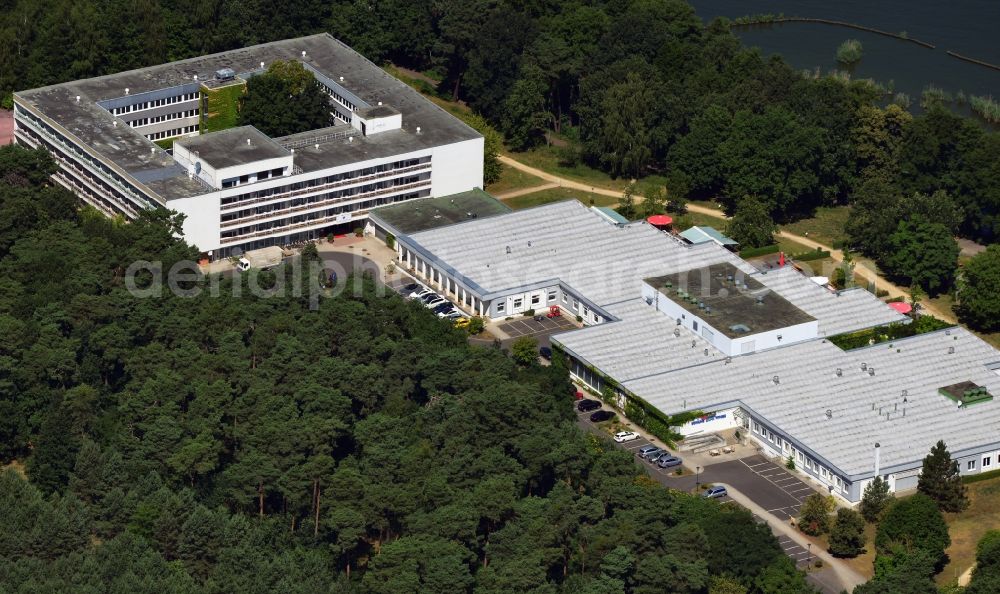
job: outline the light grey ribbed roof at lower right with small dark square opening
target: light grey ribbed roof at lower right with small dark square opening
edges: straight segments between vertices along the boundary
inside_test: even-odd
[[[872,368],[874,375],[867,371]],[[872,473],[875,442],[888,472],[919,466],[938,439],[953,456],[991,444],[1000,450],[1000,400],[959,408],[938,393],[964,381],[1000,393],[998,370],[1000,352],[952,328],[853,351],[813,340],[623,385],[667,413],[741,402],[773,429],[857,476]]]

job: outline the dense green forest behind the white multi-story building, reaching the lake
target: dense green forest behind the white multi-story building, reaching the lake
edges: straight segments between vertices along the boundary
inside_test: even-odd
[[[567,160],[659,174],[672,195],[730,211],[756,196],[779,222],[942,192],[945,232],[1000,234],[1000,134],[942,107],[913,117],[868,81],[765,60],[683,0],[6,0],[0,94],[320,31],[435,73],[438,93],[514,149],[559,133]]]

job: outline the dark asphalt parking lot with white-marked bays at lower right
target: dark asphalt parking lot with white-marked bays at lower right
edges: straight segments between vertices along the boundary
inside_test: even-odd
[[[584,429],[603,434],[598,425],[590,422],[592,412],[583,413],[577,410],[578,421]],[[650,442],[647,439],[639,437],[639,439],[618,445],[630,452],[635,452],[648,444]],[[681,458],[684,457],[683,452],[678,452],[677,455]],[[697,475],[685,476],[677,476],[675,474],[676,468],[663,469],[656,464],[644,462],[638,457],[636,457],[636,461],[642,464],[658,482],[671,489],[693,492],[698,488],[698,483],[702,485],[711,483],[729,485],[782,521],[788,521],[789,518],[797,516],[805,498],[817,492],[784,467],[758,454],[710,464],[702,468]],[[693,470],[687,463],[685,463],[685,467]],[[719,501],[730,501],[730,498],[724,497]],[[783,534],[776,534],[776,537],[785,554],[795,561],[799,568],[805,568],[812,557],[810,551]]]

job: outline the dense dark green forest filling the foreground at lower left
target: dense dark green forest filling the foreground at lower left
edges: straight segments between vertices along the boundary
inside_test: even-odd
[[[78,210],[53,167],[0,149],[0,591],[808,591],[747,512],[585,437],[558,359],[371,278],[136,297],[131,262],[197,255],[179,221]]]

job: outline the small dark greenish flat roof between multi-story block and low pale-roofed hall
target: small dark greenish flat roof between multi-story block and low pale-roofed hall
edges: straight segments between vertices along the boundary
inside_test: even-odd
[[[390,204],[371,211],[370,217],[395,233],[409,235],[473,219],[510,212],[503,202],[478,188],[435,198],[419,198]]]

